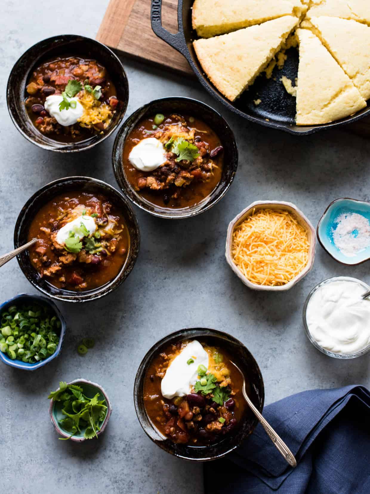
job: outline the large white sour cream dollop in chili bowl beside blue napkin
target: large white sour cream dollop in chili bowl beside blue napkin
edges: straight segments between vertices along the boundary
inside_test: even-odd
[[[192,359],[192,364],[187,361]],[[208,370],[208,353],[197,340],[188,343],[168,367],[162,381],[161,393],[169,400],[174,396],[186,396],[196,381],[198,367],[203,365]]]

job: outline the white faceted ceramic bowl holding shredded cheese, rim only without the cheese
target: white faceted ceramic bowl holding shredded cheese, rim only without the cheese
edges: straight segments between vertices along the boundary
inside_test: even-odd
[[[238,269],[232,260],[232,235],[237,226],[240,225],[248,216],[253,213],[253,209],[262,209],[262,208],[271,208],[271,209],[286,209],[290,213],[292,213],[298,223],[303,226],[308,235],[308,241],[310,243],[310,249],[308,253],[308,262],[305,268],[286,285],[282,285],[279,287],[271,287],[268,285],[257,285],[256,283],[250,282],[243,273]],[[296,205],[292,203],[287,203],[285,201],[255,201],[250,204],[248,207],[243,209],[233,220],[230,221],[229,226],[227,228],[227,237],[226,237],[226,246],[225,246],[225,257],[227,264],[230,266],[232,271],[236,274],[236,276],[246,285],[248,288],[252,288],[253,290],[264,290],[264,291],[285,291],[294,287],[298,281],[306,276],[306,274],[311,271],[315,259],[315,249],[316,249],[316,233],[315,229],[312,226],[310,220],[302,213],[300,209],[297,208]]]

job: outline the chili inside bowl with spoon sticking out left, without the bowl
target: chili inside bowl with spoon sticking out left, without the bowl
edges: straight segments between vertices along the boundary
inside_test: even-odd
[[[95,232],[76,238],[71,231],[74,242],[68,250],[67,240],[59,244],[58,231],[84,216],[94,218]],[[30,247],[30,259],[39,276],[57,288],[72,291],[101,287],[111,281],[122,268],[130,244],[122,213],[105,196],[87,192],[69,192],[41,207],[28,237],[38,239]]]

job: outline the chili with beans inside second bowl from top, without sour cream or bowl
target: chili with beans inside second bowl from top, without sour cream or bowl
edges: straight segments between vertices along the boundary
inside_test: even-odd
[[[157,115],[158,116],[158,115]],[[202,120],[181,115],[161,115],[144,119],[128,135],[123,149],[123,168],[128,181],[150,203],[166,208],[194,206],[208,197],[221,180],[223,147],[220,138]],[[154,137],[162,142],[166,161],[154,171],[135,168],[129,161],[133,147],[142,139]],[[179,139],[196,146],[193,160],[176,154]]]

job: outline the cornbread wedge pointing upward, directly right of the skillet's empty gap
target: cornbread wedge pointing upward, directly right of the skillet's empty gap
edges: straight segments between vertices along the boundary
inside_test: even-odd
[[[366,107],[366,101],[319,38],[297,29],[297,125],[327,124]]]

